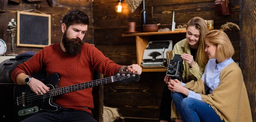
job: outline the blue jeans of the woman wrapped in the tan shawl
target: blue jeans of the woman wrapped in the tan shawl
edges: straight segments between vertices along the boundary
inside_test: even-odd
[[[177,92],[171,95],[183,122],[224,122],[209,104]]]

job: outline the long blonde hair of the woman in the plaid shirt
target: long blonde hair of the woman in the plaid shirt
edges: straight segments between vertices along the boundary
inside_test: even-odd
[[[206,53],[204,52],[206,47],[204,37],[208,33],[207,24],[201,17],[193,17],[189,20],[187,25],[187,28],[189,26],[195,26],[195,28],[200,31],[199,46],[198,51],[196,53],[196,62],[198,63],[200,68],[204,69],[207,64],[207,61],[209,60],[208,55],[206,55]]]

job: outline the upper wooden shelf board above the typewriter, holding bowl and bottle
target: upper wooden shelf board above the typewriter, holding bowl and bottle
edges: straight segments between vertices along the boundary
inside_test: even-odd
[[[151,36],[151,35],[164,35],[164,34],[175,34],[175,33],[186,33],[186,30],[182,30],[182,31],[164,31],[164,32],[149,32],[149,33],[122,33],[122,37],[125,37],[125,36]]]

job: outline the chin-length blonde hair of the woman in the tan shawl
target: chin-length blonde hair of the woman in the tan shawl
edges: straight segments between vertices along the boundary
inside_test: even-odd
[[[224,61],[234,55],[235,50],[227,34],[221,30],[212,30],[206,34],[205,40],[216,46],[215,58]]]

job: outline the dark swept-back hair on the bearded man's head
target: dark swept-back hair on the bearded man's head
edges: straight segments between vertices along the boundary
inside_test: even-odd
[[[67,12],[63,17],[62,22],[67,26],[67,28],[73,24],[89,25],[89,17],[84,13],[84,11],[73,9]]]

